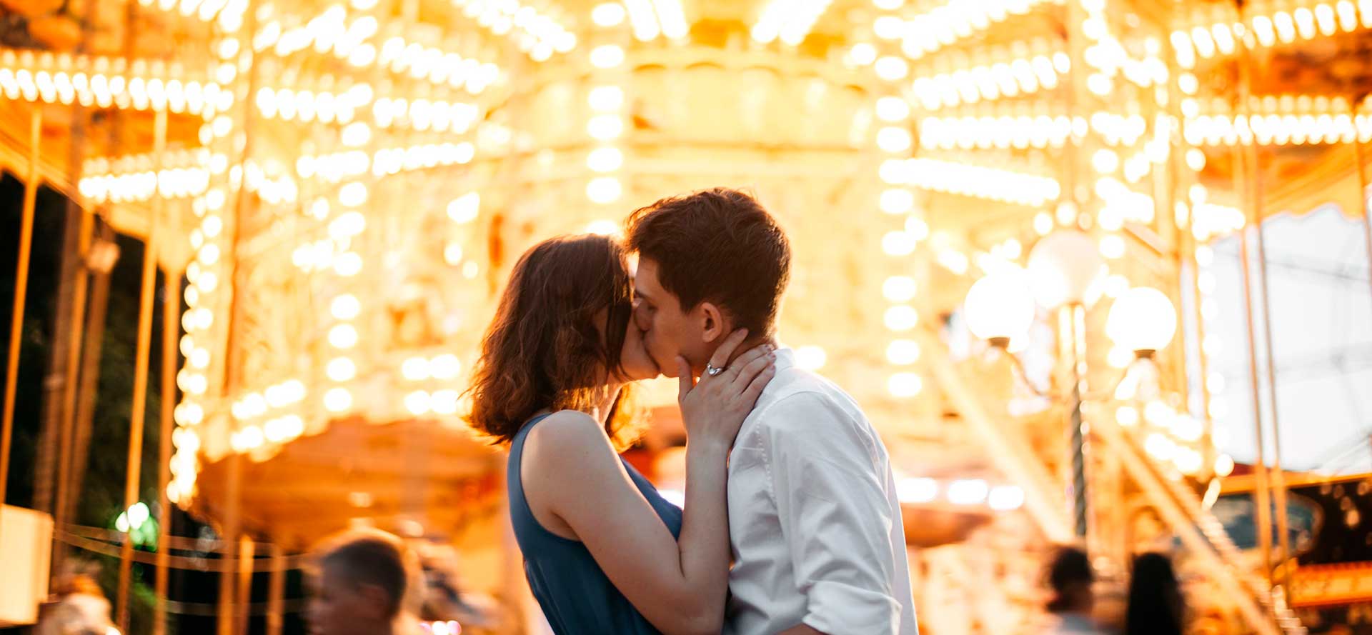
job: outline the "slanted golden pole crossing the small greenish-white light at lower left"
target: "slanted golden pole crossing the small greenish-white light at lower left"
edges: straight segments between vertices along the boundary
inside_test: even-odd
[[[161,115],[162,118],[165,115]],[[152,346],[152,296],[156,295],[158,277],[158,218],[152,217],[152,229],[143,250],[143,288],[139,293],[139,343],[133,361],[133,413],[129,421],[129,458],[123,477],[123,509],[139,501],[139,484],[143,476],[143,420],[148,402],[148,357]],[[129,632],[129,577],[133,573],[133,540],[123,538],[119,549],[119,591],[115,602],[119,631]]]

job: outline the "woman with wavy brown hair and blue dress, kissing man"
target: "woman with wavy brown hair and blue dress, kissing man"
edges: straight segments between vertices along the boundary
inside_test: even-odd
[[[735,332],[691,379],[679,366],[686,505],[617,451],[634,439],[624,388],[660,369],[631,320],[623,248],[604,236],[539,243],[514,265],[486,337],[471,422],[509,444],[510,521],[549,624],[575,634],[718,634],[729,583],[726,459],[775,373],[768,346],[730,362]]]

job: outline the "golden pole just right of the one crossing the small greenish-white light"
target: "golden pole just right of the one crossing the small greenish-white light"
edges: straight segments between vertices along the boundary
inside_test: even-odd
[[[154,582],[156,603],[152,606],[152,635],[166,632],[167,564],[172,547],[172,501],[167,486],[172,481],[172,409],[176,403],[177,337],[181,333],[181,273],[162,270],[162,398],[158,409],[158,561]]]

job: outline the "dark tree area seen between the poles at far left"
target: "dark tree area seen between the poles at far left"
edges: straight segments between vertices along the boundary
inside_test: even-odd
[[[0,317],[5,351],[10,346],[10,320],[14,310],[14,287],[18,265],[22,222],[23,184],[11,176],[0,180]],[[54,340],[54,306],[58,296],[62,259],[63,215],[66,199],[51,189],[40,189],[34,213],[33,244],[29,265],[29,288],[25,303],[23,335],[21,340],[19,377],[15,403],[14,442],[7,481],[5,503],[32,507],[34,503],[36,458],[43,416],[43,381]],[[99,383],[91,424],[89,453],[84,479],[75,495],[73,523],[88,527],[114,528],[123,510],[123,483],[129,448],[129,417],[133,402],[134,358],[137,348],[139,293],[144,245],[128,236],[117,236],[119,259],[110,273],[110,295],[106,329],[102,343]],[[173,284],[173,293],[180,293]],[[158,501],[158,444],[161,413],[161,303],[166,288],[162,276],[156,280],[154,322],[150,351],[147,417],[139,499],[155,510]],[[4,366],[0,365],[0,377]],[[191,538],[210,538],[209,527],[173,507],[172,534]],[[151,549],[151,547],[150,547]],[[207,569],[215,566],[214,557],[202,554]],[[119,564],[117,557],[70,549],[69,558],[97,566],[97,580],[106,597],[115,598]],[[151,566],[134,565],[134,584],[130,592],[130,632],[151,631],[152,579]],[[218,594],[218,579],[210,572],[181,572],[170,575],[173,601],[213,605]],[[210,632],[213,617],[173,614],[167,632]],[[178,628],[181,627],[181,628]],[[0,632],[26,632],[23,628]]]

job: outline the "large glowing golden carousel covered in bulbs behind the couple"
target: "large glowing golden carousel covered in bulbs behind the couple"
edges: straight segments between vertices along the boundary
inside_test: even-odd
[[[504,457],[462,418],[482,329],[528,245],[613,235],[637,207],[715,185],[756,193],[790,235],[781,337],[890,448],[925,631],[1032,632],[1041,558],[1073,542],[1115,591],[1132,554],[1177,554],[1196,632],[1308,632],[1301,606],[1327,603],[1292,595],[1309,588],[1294,584],[1292,475],[1280,443],[1264,455],[1286,432],[1270,414],[1262,228],[1332,204],[1367,244],[1367,280],[1372,1],[0,12],[0,165],[74,203],[73,362],[45,394],[54,429],[81,438],[75,362],[102,229],[137,237],[154,256],[133,438],[151,365],[165,377],[151,390],[176,407],[148,421],[163,432],[158,480],[130,469],[125,503],[214,527],[221,635],[254,616],[280,632],[299,606],[281,577],[348,527],[405,536],[431,573],[461,580],[469,599],[425,602],[432,632],[541,632]],[[1217,252],[1231,251],[1242,267],[1224,295]],[[1365,283],[1349,293],[1372,300]],[[1222,311],[1246,328],[1225,329]],[[1251,403],[1225,403],[1217,355],[1243,365],[1229,381],[1251,380]],[[646,395],[653,428],[631,458],[681,488],[675,387]],[[1258,466],[1240,487],[1251,546],[1214,513],[1239,477],[1224,450],[1238,429],[1258,439],[1242,461]],[[73,525],[69,446],[44,473],[52,550],[122,553],[123,628],[129,562],[155,568],[165,599],[189,538],[163,531],[152,555],[132,531]],[[141,461],[141,443],[117,451]],[[255,576],[272,580],[265,603]],[[155,632],[173,609],[158,602]]]

